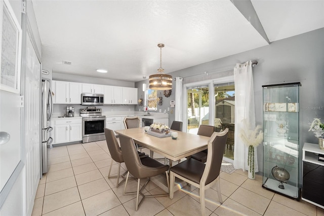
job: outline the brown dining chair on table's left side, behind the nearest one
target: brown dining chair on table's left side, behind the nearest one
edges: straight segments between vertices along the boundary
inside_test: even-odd
[[[119,148],[118,141],[117,141],[114,131],[110,130],[108,128],[104,128],[104,131],[105,131],[107,147],[108,147],[108,150],[109,150],[109,153],[111,156],[108,178],[117,178],[116,188],[118,188],[118,186],[125,181],[125,179],[126,179],[125,174],[127,173],[127,171],[126,171],[121,175],[121,177],[123,177],[123,180],[121,182],[119,182],[120,164],[124,162],[123,154],[121,154],[121,150]],[[142,152],[138,152],[138,154],[139,154],[140,158],[148,157],[148,155],[145,155],[145,153],[142,153]],[[116,161],[118,163],[118,171],[117,171],[116,175],[111,176],[110,172],[111,172],[111,167],[112,167],[113,161]]]

